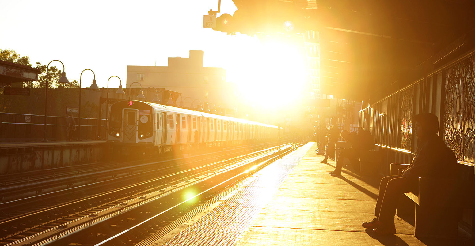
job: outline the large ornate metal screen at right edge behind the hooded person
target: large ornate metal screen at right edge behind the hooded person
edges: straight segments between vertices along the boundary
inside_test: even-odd
[[[458,160],[474,162],[475,56],[451,67],[446,74],[445,141]]]

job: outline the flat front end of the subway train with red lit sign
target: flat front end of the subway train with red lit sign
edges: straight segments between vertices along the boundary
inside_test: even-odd
[[[153,113],[153,107],[142,101],[124,100],[114,103],[109,111],[107,142],[121,146],[152,147]],[[129,152],[127,150],[132,149],[123,151]]]

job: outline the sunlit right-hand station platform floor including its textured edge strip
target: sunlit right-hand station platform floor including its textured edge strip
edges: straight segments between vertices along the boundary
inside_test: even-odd
[[[323,156],[315,150],[314,142],[300,147],[147,245],[468,245],[459,239],[421,241],[397,216],[396,235],[373,235],[361,223],[374,218],[379,181],[345,169],[331,176],[335,163],[320,163]]]

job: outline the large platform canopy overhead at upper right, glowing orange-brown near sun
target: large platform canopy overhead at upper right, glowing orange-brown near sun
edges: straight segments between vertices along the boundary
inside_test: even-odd
[[[473,0],[233,2],[247,16],[318,31],[321,93],[343,99],[378,100],[474,47]]]

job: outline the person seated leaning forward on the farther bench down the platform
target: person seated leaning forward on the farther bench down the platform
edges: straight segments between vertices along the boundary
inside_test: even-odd
[[[348,140],[352,144],[352,147],[340,149],[336,168],[330,173],[335,176],[342,174],[344,158],[348,158],[354,167],[358,164],[358,158],[360,158],[361,151],[368,151],[374,148],[374,140],[373,136],[371,136],[371,132],[362,127],[358,128],[358,132],[343,130],[340,136]]]

